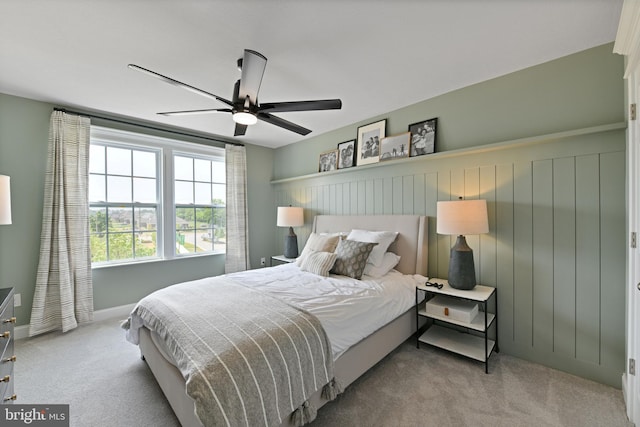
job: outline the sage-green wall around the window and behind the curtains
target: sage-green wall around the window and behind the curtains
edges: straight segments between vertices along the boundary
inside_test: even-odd
[[[40,250],[44,174],[49,116],[53,105],[0,94],[0,174],[11,176],[13,224],[0,226],[0,286],[13,286],[22,296],[16,308],[18,325],[29,323]],[[95,124],[174,137],[170,133],[112,121]],[[183,138],[202,143],[197,138]],[[247,145],[249,239],[251,264],[273,255],[275,208],[269,184],[273,150]],[[224,255],[182,258],[93,271],[96,310],[137,302],[164,286],[224,272]]]

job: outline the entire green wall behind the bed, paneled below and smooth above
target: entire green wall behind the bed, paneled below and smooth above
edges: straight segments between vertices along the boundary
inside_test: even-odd
[[[316,214],[429,217],[429,275],[453,240],[438,200],[483,198],[490,232],[469,236],[498,288],[501,351],[620,387],[625,366],[623,59],[605,45],[482,82],[276,150],[276,204]],[[438,117],[437,153],[316,173],[318,154],[386,118],[387,135]],[[295,161],[294,161],[295,160]],[[278,243],[282,243],[278,231]]]

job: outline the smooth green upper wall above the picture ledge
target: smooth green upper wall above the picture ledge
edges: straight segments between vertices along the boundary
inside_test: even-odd
[[[317,172],[321,152],[381,119],[394,135],[437,117],[437,152],[624,121],[623,59],[612,50],[589,49],[278,148],[273,177]]]

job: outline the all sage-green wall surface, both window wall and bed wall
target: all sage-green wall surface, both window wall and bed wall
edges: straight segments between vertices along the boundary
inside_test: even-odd
[[[503,352],[620,387],[624,370],[623,60],[605,45],[372,117],[276,150],[247,146],[250,254],[282,252],[275,207],[314,214],[430,217],[429,272],[446,276],[451,241],[435,203],[489,201],[491,230],[470,237],[478,277],[499,290]],[[0,173],[14,223],[0,226],[0,283],[29,321],[53,105],[0,94]],[[315,173],[318,155],[387,119],[387,134],[438,117],[437,153]],[[100,123],[106,124],[106,123]],[[138,129],[140,130],[140,129]],[[550,135],[550,136],[549,136]],[[171,283],[219,274],[220,255],[94,271],[95,307],[136,302]]]

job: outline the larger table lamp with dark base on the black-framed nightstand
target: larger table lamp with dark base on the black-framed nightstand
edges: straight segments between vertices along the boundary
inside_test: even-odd
[[[465,235],[489,232],[486,200],[454,200],[438,202],[436,209],[438,234],[458,236],[451,248],[449,259],[449,285],[470,290],[476,286],[473,249],[467,245]]]

